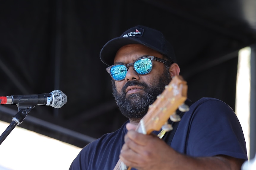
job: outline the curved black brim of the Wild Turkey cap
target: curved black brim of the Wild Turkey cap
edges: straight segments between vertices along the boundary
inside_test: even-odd
[[[108,41],[100,51],[99,58],[101,61],[108,66],[113,64],[114,58],[116,56],[116,52],[122,46],[127,44],[142,44],[148,46],[147,44],[139,41],[136,38],[124,38],[124,37],[117,37],[110,41]]]

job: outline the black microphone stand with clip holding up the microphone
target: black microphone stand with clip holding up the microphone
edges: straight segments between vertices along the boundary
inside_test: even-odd
[[[31,97],[27,98],[26,96],[23,98],[23,100],[20,101],[22,102],[16,104],[18,106],[18,113],[12,117],[12,122],[0,136],[0,145],[3,143],[6,137],[12,132],[12,130],[17,125],[23,122],[23,120],[28,115],[29,111],[31,111],[31,109],[33,109],[38,104],[38,99],[31,99]]]

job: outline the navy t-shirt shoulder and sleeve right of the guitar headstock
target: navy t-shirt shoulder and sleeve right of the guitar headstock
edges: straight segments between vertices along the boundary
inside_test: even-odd
[[[244,134],[235,112],[216,98],[201,98],[193,103],[177,132],[183,135],[189,155],[247,157]]]

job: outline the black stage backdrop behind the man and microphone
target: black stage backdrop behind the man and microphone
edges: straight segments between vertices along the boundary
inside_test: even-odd
[[[0,95],[63,91],[62,108],[37,106],[19,126],[83,147],[127,120],[100,49],[145,25],[173,44],[191,100],[219,98],[235,109],[238,50],[256,43],[255,9],[250,0],[1,1]],[[17,111],[2,105],[0,119]]]

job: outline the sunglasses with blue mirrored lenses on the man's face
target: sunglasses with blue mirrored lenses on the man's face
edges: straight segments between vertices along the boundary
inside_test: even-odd
[[[133,70],[139,75],[146,75],[151,72],[153,67],[152,60],[156,60],[162,62],[164,64],[171,64],[173,61],[166,61],[164,59],[160,59],[154,56],[142,57],[135,60],[133,63],[129,64],[114,64],[107,68],[107,72],[110,76],[116,80],[121,81],[124,80],[128,68],[133,66]]]

